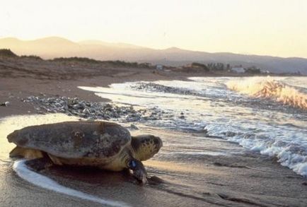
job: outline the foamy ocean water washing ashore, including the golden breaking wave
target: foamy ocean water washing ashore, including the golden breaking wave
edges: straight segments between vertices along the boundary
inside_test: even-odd
[[[190,155],[193,160],[199,155],[231,156],[250,151],[277,158],[281,165],[307,176],[306,77],[192,77],[189,81],[80,88],[117,105],[158,112],[158,119],[141,119],[137,124],[197,134],[188,137],[185,148],[162,152],[165,158]],[[204,150],[210,139],[238,147]]]

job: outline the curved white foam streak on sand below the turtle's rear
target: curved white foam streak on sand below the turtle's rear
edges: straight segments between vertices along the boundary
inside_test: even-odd
[[[15,172],[17,173],[19,177],[25,179],[31,184],[34,184],[38,187],[42,187],[44,189],[56,191],[60,194],[74,196],[79,199],[93,201],[95,203],[101,203],[106,206],[128,206],[126,203],[122,203],[119,201],[111,201],[108,199],[100,199],[96,196],[92,196],[90,194],[86,194],[81,191],[77,191],[74,189],[70,189],[68,187],[64,187],[48,177],[45,177],[36,172],[33,172],[32,170],[29,170],[28,167],[25,165],[25,160],[18,160],[14,162],[13,170],[15,170]]]

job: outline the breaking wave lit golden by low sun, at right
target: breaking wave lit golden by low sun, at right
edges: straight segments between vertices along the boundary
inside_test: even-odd
[[[284,105],[307,110],[307,94],[302,93],[291,85],[286,85],[273,78],[256,77],[244,81],[228,81],[230,90],[250,95],[252,97],[269,98]]]

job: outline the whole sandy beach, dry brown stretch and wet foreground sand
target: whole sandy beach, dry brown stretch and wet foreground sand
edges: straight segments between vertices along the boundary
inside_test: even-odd
[[[74,73],[72,73],[74,71]],[[74,75],[72,75],[74,74]],[[64,114],[37,114],[33,104],[22,100],[30,95],[79,97],[90,102],[108,102],[79,86],[108,87],[127,81],[186,80],[204,73],[155,71],[154,69],[117,68],[84,63],[52,63],[33,59],[0,59],[0,206],[102,206],[76,196],[44,189],[19,177],[13,170],[6,135],[14,129],[40,123],[66,121],[79,117]],[[210,75],[210,74],[209,74]],[[212,75],[212,74],[211,74]],[[129,127],[129,123],[125,126]],[[197,150],[242,150],[241,146],[204,134],[159,129],[144,124],[132,135],[155,134],[163,139],[163,148],[144,162],[149,184],[141,186],[127,172],[74,167],[51,167],[40,172],[62,187],[120,202],[122,206],[306,206],[307,179],[276,159],[243,150],[243,155],[199,155],[183,153],[189,141],[202,141]],[[108,206],[108,205],[106,205]]]

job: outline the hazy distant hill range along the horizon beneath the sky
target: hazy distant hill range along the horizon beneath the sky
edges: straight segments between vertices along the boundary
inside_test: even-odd
[[[23,41],[16,38],[0,39],[0,49],[11,49],[18,55],[37,55],[44,59],[55,57],[88,57],[98,60],[122,60],[182,66],[191,62],[208,64],[221,62],[231,66],[257,66],[274,73],[307,74],[307,59],[233,54],[229,52],[197,52],[177,47],[151,49],[125,43],[108,43],[98,40],[72,42],[61,37],[46,37]]]

